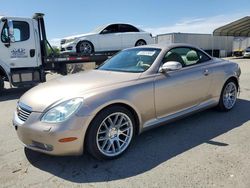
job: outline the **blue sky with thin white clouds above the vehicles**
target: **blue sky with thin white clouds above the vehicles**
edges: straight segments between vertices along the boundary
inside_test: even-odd
[[[134,24],[154,35],[170,32],[212,33],[250,16],[250,0],[0,0],[0,15],[31,17],[45,13],[51,43],[90,32],[106,23]]]

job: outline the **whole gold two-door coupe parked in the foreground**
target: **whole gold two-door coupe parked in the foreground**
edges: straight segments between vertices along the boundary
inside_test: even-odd
[[[96,70],[27,91],[13,124],[23,144],[52,155],[113,159],[143,131],[211,107],[231,110],[240,67],[187,44],[123,50]]]

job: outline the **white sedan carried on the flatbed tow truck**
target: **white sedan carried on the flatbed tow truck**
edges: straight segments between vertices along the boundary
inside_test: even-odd
[[[94,52],[119,51],[125,48],[152,44],[151,33],[130,24],[108,24],[92,33],[75,35],[61,40],[61,52],[89,55]]]

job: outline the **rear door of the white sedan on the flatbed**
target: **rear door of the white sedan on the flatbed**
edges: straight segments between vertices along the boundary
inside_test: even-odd
[[[119,31],[122,38],[122,48],[131,48],[135,46],[139,30],[129,24],[119,24]]]

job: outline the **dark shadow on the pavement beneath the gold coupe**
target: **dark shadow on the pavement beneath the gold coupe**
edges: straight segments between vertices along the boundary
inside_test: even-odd
[[[212,141],[250,120],[250,101],[239,99],[228,112],[207,110],[136,137],[129,150],[112,161],[97,161],[89,155],[53,157],[29,149],[25,154],[40,170],[77,183],[105,182],[135,176],[168,161],[200,144],[230,147]]]

